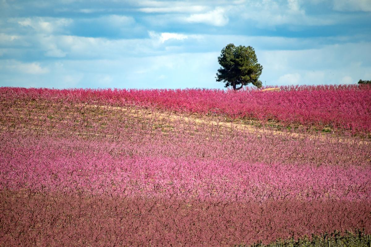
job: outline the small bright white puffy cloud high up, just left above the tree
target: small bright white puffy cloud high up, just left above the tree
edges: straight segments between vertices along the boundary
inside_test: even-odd
[[[229,22],[226,9],[223,7],[216,7],[214,10],[203,14],[191,14],[184,20],[189,23],[205,23],[212,26],[225,26]]]

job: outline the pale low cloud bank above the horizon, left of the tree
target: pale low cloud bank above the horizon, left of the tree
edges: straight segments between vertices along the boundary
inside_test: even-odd
[[[215,81],[217,53],[180,53],[124,59],[45,62],[52,73],[30,75],[1,69],[0,85],[89,88],[222,88]],[[40,64],[40,67],[43,67]],[[5,72],[8,71],[8,72]],[[141,71],[138,73],[138,71]],[[5,73],[4,73],[5,72]]]

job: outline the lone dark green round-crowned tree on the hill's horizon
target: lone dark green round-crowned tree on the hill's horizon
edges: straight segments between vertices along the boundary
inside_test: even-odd
[[[255,50],[251,46],[228,44],[221,50],[218,62],[221,67],[215,78],[216,81],[225,82],[225,87],[232,86],[233,90],[240,90],[249,83],[262,87],[259,76],[263,66],[258,64]]]

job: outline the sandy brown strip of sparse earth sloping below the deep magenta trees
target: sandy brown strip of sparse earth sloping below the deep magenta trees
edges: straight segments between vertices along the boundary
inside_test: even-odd
[[[60,131],[53,129],[58,123],[67,123],[75,118],[76,122],[71,133],[74,134],[90,134],[103,135],[101,133],[86,132],[86,128],[91,124],[101,125],[105,129],[103,121],[114,119],[123,119],[128,121],[128,124],[141,123],[142,126],[152,129],[161,128],[164,133],[174,130],[175,126],[193,126],[192,128],[204,128],[210,131],[217,129],[238,130],[253,134],[273,134],[276,136],[285,135],[291,138],[323,138],[333,137],[333,142],[355,142],[358,144],[370,143],[370,138],[354,137],[339,137],[339,130],[325,128],[318,131],[311,126],[302,126],[292,124],[284,126],[277,121],[268,121],[262,124],[256,119],[237,118],[232,119],[224,116],[203,116],[200,114],[176,113],[162,111],[158,109],[148,109],[137,105],[111,106],[111,105],[94,105],[94,104],[71,104],[64,105],[62,103],[54,103],[50,101],[14,101],[13,103],[2,102],[0,105],[0,126],[2,131],[38,131],[45,128],[45,123],[51,127],[47,131]],[[85,123],[84,128],[79,127]],[[190,130],[192,130],[192,128]],[[84,132],[85,131],[85,132]],[[325,132],[323,132],[325,131]],[[105,134],[107,136],[107,133]],[[109,136],[109,135],[108,135]],[[341,133],[340,133],[341,136]]]

